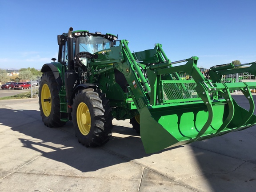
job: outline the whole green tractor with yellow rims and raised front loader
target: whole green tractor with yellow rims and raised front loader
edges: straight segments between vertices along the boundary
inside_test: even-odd
[[[198,57],[171,62],[161,44],[132,53],[128,40],[110,33],[69,28],[57,37],[58,60],[41,69],[40,113],[48,127],[72,120],[78,141],[87,147],[108,142],[113,118],[130,119],[147,153],[256,124],[250,92],[256,83],[221,83],[222,75],[241,70],[232,64],[209,69],[209,80],[197,67]],[[248,65],[247,72],[255,74],[256,63]],[[249,110],[236,103],[231,90],[243,92]]]

